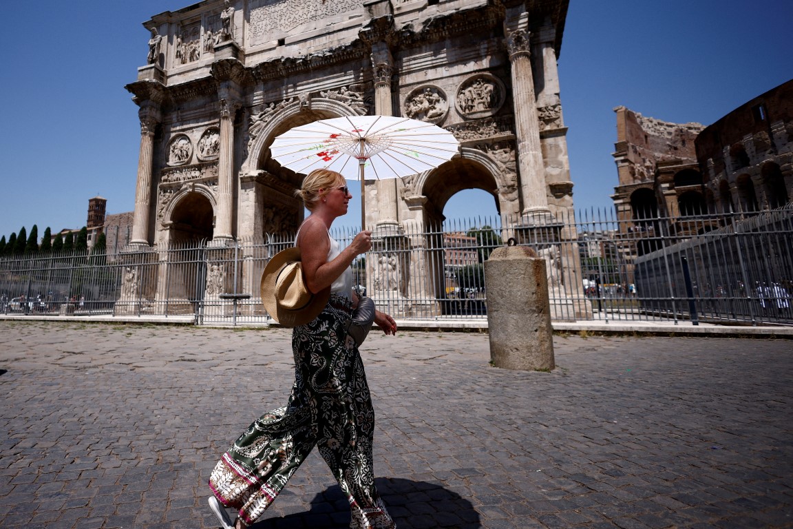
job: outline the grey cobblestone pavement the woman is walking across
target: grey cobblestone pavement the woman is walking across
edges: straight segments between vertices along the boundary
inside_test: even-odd
[[[209,472],[285,403],[289,330],[0,322],[0,527],[217,527]],[[488,336],[363,347],[377,485],[412,527],[793,527],[793,342]],[[256,529],[347,527],[316,454]]]

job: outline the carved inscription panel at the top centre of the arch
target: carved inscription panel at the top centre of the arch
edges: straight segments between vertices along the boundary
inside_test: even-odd
[[[251,0],[248,36],[256,46],[327,26],[362,10],[358,0]]]

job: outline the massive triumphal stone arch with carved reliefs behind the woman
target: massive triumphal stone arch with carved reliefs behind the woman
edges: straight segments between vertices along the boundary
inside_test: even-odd
[[[206,267],[218,270],[213,255],[233,241],[294,232],[303,177],[271,159],[270,144],[294,126],[356,114],[429,121],[461,144],[434,171],[365,182],[381,250],[431,244],[405,233],[439,228],[465,189],[492,194],[508,236],[574,241],[554,220],[573,208],[557,75],[568,3],[205,0],[151,17],[147,64],[126,86],[141,125],[130,250],[209,240]],[[207,295],[238,292],[233,278],[260,273],[220,270],[223,284],[208,280]],[[439,288],[422,284],[429,297]]]

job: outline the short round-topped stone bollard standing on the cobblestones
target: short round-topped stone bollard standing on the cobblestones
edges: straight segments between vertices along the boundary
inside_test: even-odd
[[[485,285],[493,365],[553,370],[554,333],[545,260],[538,259],[530,247],[496,248],[485,261]]]

